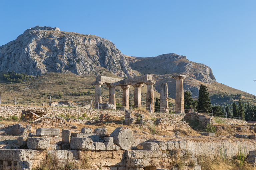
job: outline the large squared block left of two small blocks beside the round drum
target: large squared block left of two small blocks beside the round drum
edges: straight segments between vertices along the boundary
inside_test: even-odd
[[[94,150],[95,146],[91,138],[88,137],[71,137],[71,150]]]

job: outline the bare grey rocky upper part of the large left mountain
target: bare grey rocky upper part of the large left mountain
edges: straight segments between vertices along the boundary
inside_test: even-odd
[[[136,76],[113,42],[93,35],[36,26],[0,46],[0,71],[96,75],[106,69],[120,77]]]

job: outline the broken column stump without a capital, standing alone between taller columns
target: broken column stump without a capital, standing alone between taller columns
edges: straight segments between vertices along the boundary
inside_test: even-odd
[[[161,113],[169,113],[168,107],[168,86],[167,83],[161,84],[160,90],[160,112]]]

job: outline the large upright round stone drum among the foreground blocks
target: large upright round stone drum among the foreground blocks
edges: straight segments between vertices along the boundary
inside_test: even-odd
[[[116,128],[109,137],[113,137],[114,143],[123,150],[130,149],[131,145],[135,142],[132,129],[125,127]]]

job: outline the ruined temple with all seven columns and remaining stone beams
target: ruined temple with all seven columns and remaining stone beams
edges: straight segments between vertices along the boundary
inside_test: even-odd
[[[175,75],[173,78],[176,80],[176,114],[184,114],[184,94],[183,94],[183,79],[185,75]],[[123,107],[130,109],[129,107],[129,88],[130,85],[134,87],[134,107],[141,108],[141,87],[143,84],[147,85],[147,96],[146,96],[146,110],[149,112],[154,111],[154,87],[156,83],[152,80],[152,75],[143,75],[128,79],[119,79],[106,76],[97,76],[96,81],[93,82],[95,85],[95,102],[97,104],[102,103],[101,98],[101,85],[106,84],[109,87],[109,104],[113,104],[116,109],[116,95],[115,87],[121,86],[123,89]],[[160,93],[160,112],[168,113],[168,87],[167,83],[161,84]]]

